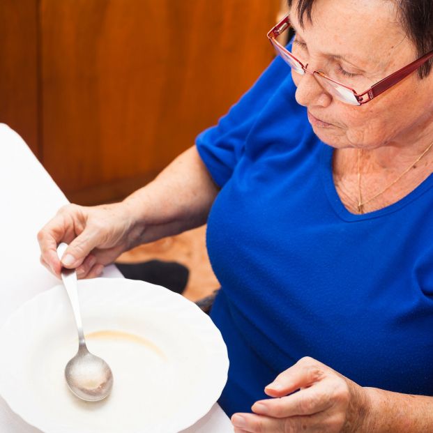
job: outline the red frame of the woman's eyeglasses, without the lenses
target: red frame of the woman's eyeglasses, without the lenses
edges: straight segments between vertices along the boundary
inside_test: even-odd
[[[296,59],[296,57],[293,54],[291,54],[291,52],[286,50],[286,48],[283,47],[278,42],[278,40],[276,40],[276,38],[278,38],[278,36],[280,36],[284,31],[288,30],[289,27],[290,27],[290,19],[289,19],[289,15],[286,15],[276,26],[273,26],[273,28],[270,31],[268,31],[268,39],[271,42],[271,44],[274,45],[275,48],[277,48],[277,50],[282,50],[285,54],[290,56],[291,59],[294,59],[294,61],[299,63],[299,65],[301,66],[301,68],[303,68],[305,72],[311,74],[311,72],[307,70],[307,68],[303,65],[301,61]],[[426,61],[432,59],[432,57],[433,57],[433,51],[424,54],[419,59],[416,59],[416,61],[409,63],[409,65],[404,66],[403,68],[397,70],[395,73],[392,73],[391,75],[388,75],[388,77],[381,79],[376,84],[373,84],[373,86],[371,86],[370,89],[367,89],[363,93],[356,93],[356,91],[354,89],[351,89],[351,87],[346,86],[345,84],[342,84],[340,82],[337,82],[335,79],[327,77],[324,73],[321,73],[319,70],[314,71],[314,73],[317,73],[321,75],[321,77],[324,77],[330,80],[331,82],[334,82],[335,84],[338,84],[339,86],[342,86],[348,89],[349,91],[352,91],[354,93],[354,96],[358,100],[359,105],[363,105],[367,102],[370,102],[370,100],[376,98],[384,91],[390,89],[390,87],[394,86],[398,82],[402,81],[402,79],[406,78],[408,75],[416,71]]]

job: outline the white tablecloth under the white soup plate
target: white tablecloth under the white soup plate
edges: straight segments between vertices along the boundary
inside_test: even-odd
[[[68,200],[22,138],[2,123],[0,181],[1,327],[22,303],[59,284],[39,262],[36,234]],[[102,276],[119,277],[121,274],[114,266],[108,266]],[[15,415],[0,397],[0,432],[40,433],[40,430]],[[229,418],[215,403],[204,418],[182,433],[233,432]]]

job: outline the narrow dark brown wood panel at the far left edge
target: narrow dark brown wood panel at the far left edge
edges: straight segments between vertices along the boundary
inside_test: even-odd
[[[0,122],[22,135],[41,157],[37,20],[37,0],[0,0]]]

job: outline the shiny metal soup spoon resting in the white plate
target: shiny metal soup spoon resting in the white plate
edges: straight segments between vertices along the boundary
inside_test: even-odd
[[[66,248],[68,248],[68,244],[64,242],[57,247],[59,259],[63,257]],[[79,341],[77,354],[65,367],[66,382],[77,397],[87,402],[98,402],[107,397],[112,390],[112,370],[105,360],[92,355],[86,347],[81,314],[79,313],[77,273],[75,273],[75,269],[62,268],[61,279],[73,307]]]

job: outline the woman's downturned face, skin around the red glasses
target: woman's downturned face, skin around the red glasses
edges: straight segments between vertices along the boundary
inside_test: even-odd
[[[400,24],[389,0],[317,0],[312,23],[304,28],[296,15],[293,54],[308,70],[320,70],[357,93],[415,60],[416,47]],[[416,142],[433,133],[433,72],[425,79],[412,73],[402,82],[360,107],[332,98],[312,75],[292,72],[296,100],[308,109],[312,128],[335,148],[374,149]]]

